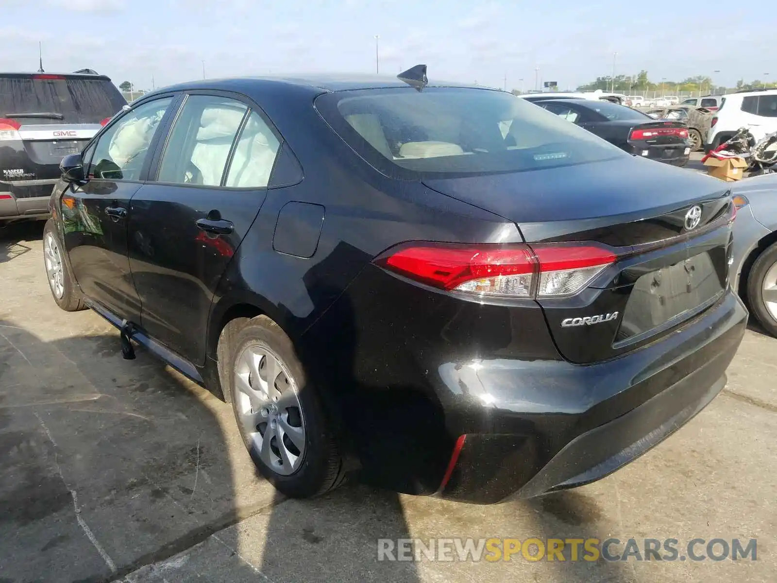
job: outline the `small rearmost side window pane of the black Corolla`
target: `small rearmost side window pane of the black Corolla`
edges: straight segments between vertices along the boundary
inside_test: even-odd
[[[235,188],[263,188],[270,181],[270,173],[280,146],[275,134],[264,120],[253,111],[240,132],[235,154],[229,166],[226,186]]]

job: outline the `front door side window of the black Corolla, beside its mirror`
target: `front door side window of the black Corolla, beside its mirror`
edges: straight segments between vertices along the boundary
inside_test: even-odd
[[[155,99],[128,111],[97,141],[89,176],[104,180],[140,180],[148,146],[172,97]]]

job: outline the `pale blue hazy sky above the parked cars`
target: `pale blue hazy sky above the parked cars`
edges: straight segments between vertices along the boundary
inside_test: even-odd
[[[425,63],[430,79],[566,89],[615,65],[733,86],[777,78],[767,2],[0,0],[0,71],[36,70],[40,41],[48,72],[92,68],[139,89],[201,79],[203,61],[208,78],[374,73],[378,35],[382,74]]]

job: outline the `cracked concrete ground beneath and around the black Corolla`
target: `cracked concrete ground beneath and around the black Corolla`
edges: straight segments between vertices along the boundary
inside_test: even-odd
[[[284,500],[230,408],[92,312],[61,312],[42,225],[0,232],[0,582],[775,581],[777,340],[749,330],[720,396],[605,480],[472,506],[350,485]],[[758,539],[758,560],[378,562],[377,539]]]

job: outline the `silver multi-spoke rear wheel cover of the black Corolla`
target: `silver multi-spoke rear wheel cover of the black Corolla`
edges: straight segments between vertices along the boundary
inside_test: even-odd
[[[275,473],[296,472],[305,458],[305,417],[286,365],[270,348],[249,345],[235,361],[235,388],[249,446]]]

